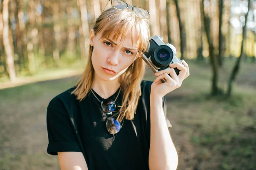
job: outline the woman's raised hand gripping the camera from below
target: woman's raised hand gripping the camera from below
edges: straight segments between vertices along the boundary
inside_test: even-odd
[[[174,70],[176,67],[180,70],[179,75],[177,75]],[[179,88],[183,80],[189,76],[189,65],[185,61],[183,61],[182,64],[172,63],[169,65],[168,69],[156,72],[155,75],[157,78],[151,85],[151,95],[163,98],[167,93]],[[163,78],[166,79],[165,83],[161,81]]]

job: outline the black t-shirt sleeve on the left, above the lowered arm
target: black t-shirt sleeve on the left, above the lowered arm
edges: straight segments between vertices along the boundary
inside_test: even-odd
[[[53,98],[47,107],[47,153],[81,152],[71,120],[59,98]]]

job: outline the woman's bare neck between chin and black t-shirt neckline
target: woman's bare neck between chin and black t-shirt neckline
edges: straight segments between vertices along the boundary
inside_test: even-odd
[[[94,75],[92,89],[102,98],[109,98],[120,87],[118,78],[112,81],[104,81]]]

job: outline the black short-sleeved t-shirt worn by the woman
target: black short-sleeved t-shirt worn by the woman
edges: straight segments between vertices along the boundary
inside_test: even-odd
[[[82,152],[89,170],[148,170],[151,84],[141,82],[142,95],[134,119],[125,119],[114,135],[108,133],[101,104],[91,92],[80,102],[70,94],[75,86],[57,95],[47,107],[47,153]],[[110,98],[115,100],[118,92]],[[122,91],[116,100],[117,106],[121,104]],[[166,115],[165,97],[163,108]],[[166,122],[170,127],[167,117]]]

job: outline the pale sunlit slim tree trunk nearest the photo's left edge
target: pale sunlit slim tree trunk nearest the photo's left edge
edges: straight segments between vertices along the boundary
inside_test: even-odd
[[[6,64],[9,78],[16,81],[13,51],[9,41],[9,0],[3,0],[3,44],[6,52]]]

